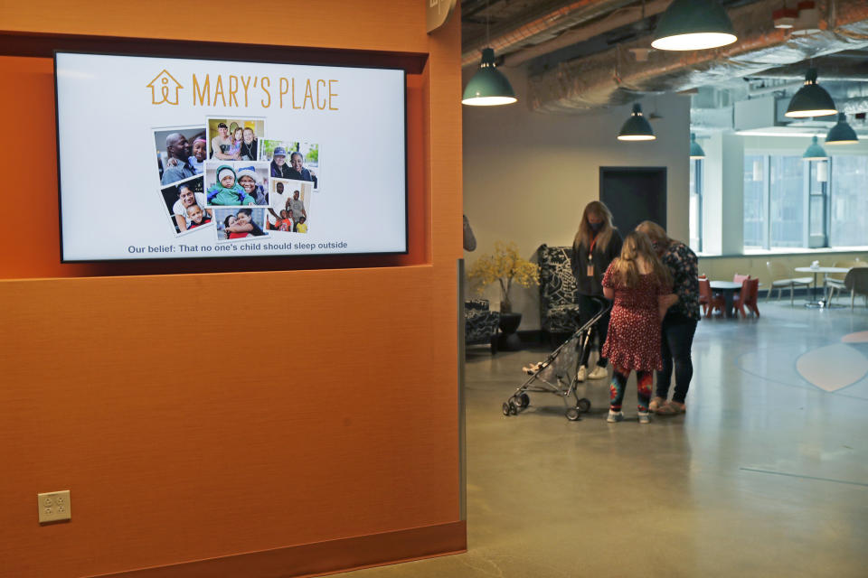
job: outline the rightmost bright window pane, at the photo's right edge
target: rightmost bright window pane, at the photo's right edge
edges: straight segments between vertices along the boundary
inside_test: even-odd
[[[868,245],[868,156],[834,156],[829,245]]]

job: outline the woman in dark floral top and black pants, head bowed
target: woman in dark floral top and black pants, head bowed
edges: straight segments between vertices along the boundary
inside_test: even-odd
[[[650,408],[651,411],[661,415],[682,414],[686,410],[684,399],[687,397],[687,389],[693,378],[693,359],[690,350],[693,347],[696,324],[700,320],[696,254],[681,241],[669,238],[665,228],[655,222],[646,220],[639,223],[636,230],[645,233],[651,239],[657,256],[673,277],[673,289],[678,295],[678,303],[666,312],[661,327],[663,339],[660,343],[660,355],[663,358],[663,368],[657,371],[657,387]],[[670,402],[666,401],[666,398],[669,396],[673,366],[675,366],[675,392]]]

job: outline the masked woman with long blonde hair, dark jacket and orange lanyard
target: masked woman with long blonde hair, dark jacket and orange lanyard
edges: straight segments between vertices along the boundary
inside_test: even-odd
[[[609,207],[599,200],[592,200],[585,206],[579,223],[579,231],[572,242],[571,266],[572,275],[576,278],[576,293],[579,296],[579,322],[581,325],[589,322],[599,312],[601,307],[609,305],[603,295],[603,274],[609,263],[621,252],[621,236],[618,229],[612,227],[612,213]],[[606,342],[606,331],[609,328],[609,314],[603,315],[594,325],[593,337],[589,345],[597,340],[597,350],[601,350]],[[608,362],[600,354],[597,367],[588,373],[588,360],[591,347],[585,348],[584,357],[579,364],[579,381],[586,378],[603,379],[609,377],[606,369]]]

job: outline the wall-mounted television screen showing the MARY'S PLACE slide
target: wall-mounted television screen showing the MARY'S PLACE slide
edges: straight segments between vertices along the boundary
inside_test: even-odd
[[[407,251],[403,70],[54,65],[63,261]]]

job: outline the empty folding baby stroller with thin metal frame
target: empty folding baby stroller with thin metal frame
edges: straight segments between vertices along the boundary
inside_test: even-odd
[[[527,395],[529,391],[561,396],[563,405],[567,408],[567,419],[571,422],[578,420],[580,414],[590,410],[590,399],[580,398],[576,393],[579,386],[576,373],[580,359],[584,357],[584,352],[589,346],[594,324],[609,312],[609,309],[611,305],[600,302],[599,312],[573,333],[570,339],[564,341],[561,347],[552,351],[548,359],[530,368],[524,368],[525,373],[530,374],[531,377],[504,402],[504,415],[517,415],[525,407],[530,406],[531,397]],[[570,397],[575,398],[575,405],[572,405]]]

